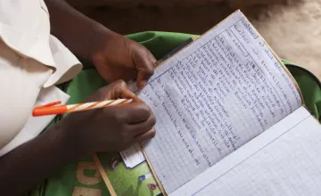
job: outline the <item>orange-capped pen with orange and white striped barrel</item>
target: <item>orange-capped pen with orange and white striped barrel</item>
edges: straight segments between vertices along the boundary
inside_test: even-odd
[[[70,105],[59,105],[62,102],[50,102],[43,106],[37,106],[32,111],[32,116],[45,116],[45,115],[53,115],[53,114],[64,114],[75,111],[83,111],[83,110],[94,110],[99,108],[106,108],[114,105],[122,105],[125,103],[133,102],[132,99],[118,99],[118,100],[106,100],[102,102],[84,102],[78,104],[70,104]]]

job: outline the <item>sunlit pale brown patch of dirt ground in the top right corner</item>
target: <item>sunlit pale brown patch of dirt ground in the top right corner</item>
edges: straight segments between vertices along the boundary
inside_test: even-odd
[[[278,56],[299,63],[321,79],[321,0],[274,7],[252,20]]]

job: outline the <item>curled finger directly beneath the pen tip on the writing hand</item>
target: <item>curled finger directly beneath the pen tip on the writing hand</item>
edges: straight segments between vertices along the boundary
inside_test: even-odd
[[[112,115],[121,123],[135,124],[150,118],[152,111],[144,102],[132,102],[121,106],[105,108],[106,115]]]

